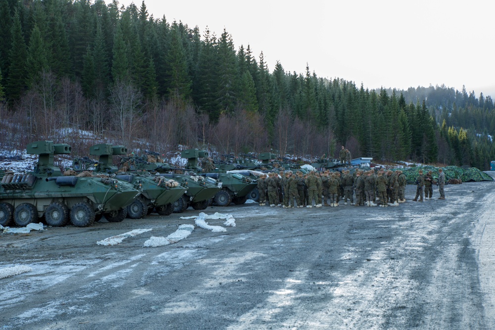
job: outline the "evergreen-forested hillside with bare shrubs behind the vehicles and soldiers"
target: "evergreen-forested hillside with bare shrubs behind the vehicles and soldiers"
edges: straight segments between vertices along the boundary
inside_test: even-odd
[[[214,145],[317,157],[346,145],[353,157],[482,170],[495,159],[489,96],[368,90],[309,66],[271,69],[226,30],[166,14],[149,15],[145,2],[0,0],[0,144],[48,139],[86,155],[83,132],[93,131],[159,152]]]

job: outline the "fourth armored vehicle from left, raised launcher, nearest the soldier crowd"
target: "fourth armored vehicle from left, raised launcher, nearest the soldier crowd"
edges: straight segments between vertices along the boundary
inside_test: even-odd
[[[186,169],[222,183],[222,189],[213,197],[218,206],[228,206],[231,202],[238,205],[246,203],[247,194],[257,185],[256,180],[239,173],[230,174],[218,169],[211,173],[203,173],[202,168],[198,166],[198,158],[208,157],[208,151],[187,149],[181,152],[181,156],[188,160]]]

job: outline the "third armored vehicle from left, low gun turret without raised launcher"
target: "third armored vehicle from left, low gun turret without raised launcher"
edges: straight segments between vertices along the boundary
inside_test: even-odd
[[[143,156],[123,157],[125,167],[131,172],[146,170],[152,173],[159,173],[160,176],[182,182],[187,185],[187,191],[174,203],[174,212],[182,213],[189,206],[195,210],[204,210],[208,207],[209,201],[220,191],[221,183],[216,180],[196,175],[193,171],[186,171],[182,168],[172,167],[159,158],[159,154],[147,151]],[[171,173],[171,172],[180,172]],[[185,172],[185,173],[184,173]]]

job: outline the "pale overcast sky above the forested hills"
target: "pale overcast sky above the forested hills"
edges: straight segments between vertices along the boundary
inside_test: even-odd
[[[107,0],[107,2],[110,0]],[[129,5],[131,0],[120,0]],[[134,0],[140,7],[142,0]],[[343,78],[365,88],[445,84],[495,98],[495,1],[145,0],[154,18],[225,28],[270,72]]]

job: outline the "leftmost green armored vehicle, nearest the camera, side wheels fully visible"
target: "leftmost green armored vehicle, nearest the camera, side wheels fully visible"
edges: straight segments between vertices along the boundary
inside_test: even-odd
[[[29,154],[38,154],[33,172],[5,174],[0,188],[0,224],[26,226],[45,217],[49,226],[74,226],[94,223],[97,214],[111,222],[125,218],[125,207],[141,193],[131,184],[108,176],[63,176],[54,166],[54,155],[69,154],[68,144],[38,141],[27,145]]]

